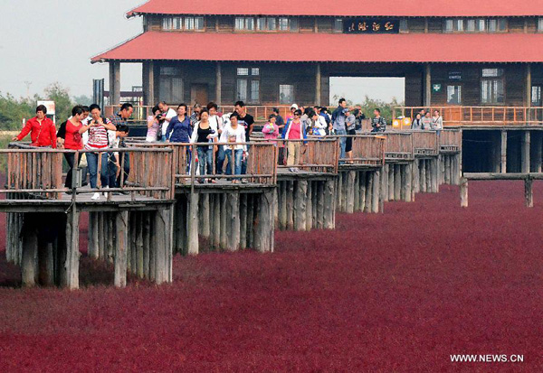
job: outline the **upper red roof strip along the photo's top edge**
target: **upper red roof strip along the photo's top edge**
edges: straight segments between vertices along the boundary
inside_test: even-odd
[[[543,0],[150,0],[136,14],[524,16],[543,15]]]

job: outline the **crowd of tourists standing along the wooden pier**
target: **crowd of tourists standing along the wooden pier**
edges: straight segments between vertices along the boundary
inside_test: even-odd
[[[46,117],[46,107],[40,105],[36,107],[36,117],[29,119],[13,140],[20,141],[30,133],[33,146],[84,149],[87,152],[77,160],[78,168],[83,170],[83,184],[88,173],[90,187],[97,188],[100,170],[102,188],[119,188],[129,176],[129,154],[109,149],[125,147],[124,139],[129,135],[128,124],[133,109],[131,104],[125,103],[119,112],[102,117],[101,108],[96,104],[90,107],[76,106],[71,110],[71,117],[56,131],[52,120]],[[369,120],[371,133],[385,132],[387,124],[385,118],[381,117],[381,110],[376,108],[373,114]],[[287,166],[300,164],[308,136],[338,136],[339,158],[341,162],[348,162],[352,159],[353,135],[362,131],[365,119],[361,108],[348,107],[345,98],[338,100],[338,107],[331,113],[328,107],[298,107],[292,104],[290,114],[284,118],[279,108],[272,109],[272,114],[262,126],[262,136],[265,141],[278,145],[279,163]],[[191,157],[195,156],[199,182],[204,182],[206,174],[217,176],[223,173],[230,175],[229,179],[233,182],[245,182],[242,175],[247,172],[247,159],[251,152],[248,143],[251,141],[254,118],[247,113],[243,101],[234,104],[232,113],[220,113],[214,102],[205,107],[196,104],[190,115],[186,104],[180,104],[174,110],[163,101],[152,108],[147,127],[147,142],[183,143],[195,147],[187,147],[187,159],[190,163]],[[439,133],[443,129],[443,118],[438,110],[432,114],[423,109],[414,117],[411,129],[431,129]],[[279,141],[281,139],[291,141]],[[76,166],[74,156],[73,153],[64,154],[69,166],[65,182],[67,188],[71,188],[72,170]],[[208,178],[208,182],[214,183],[215,179]],[[100,193],[94,193],[92,199],[100,200]]]

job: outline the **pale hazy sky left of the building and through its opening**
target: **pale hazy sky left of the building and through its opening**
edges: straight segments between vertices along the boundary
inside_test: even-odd
[[[90,58],[142,32],[142,20],[124,16],[145,0],[0,0],[0,93],[42,94],[53,82],[71,96],[92,96],[92,79],[109,65]],[[121,89],[141,85],[141,64],[121,64]],[[360,102],[365,95],[404,99],[404,79],[333,78],[330,98]]]

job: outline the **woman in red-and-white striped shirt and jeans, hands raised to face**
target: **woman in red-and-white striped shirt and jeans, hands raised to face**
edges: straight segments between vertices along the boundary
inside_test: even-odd
[[[93,150],[96,152],[87,153],[87,164],[90,174],[90,188],[96,189],[98,179],[98,162],[99,159],[100,170],[100,182],[104,187],[108,187],[110,166],[108,163],[108,153],[104,151],[109,147],[108,130],[115,131],[117,129],[110,119],[101,117],[100,107],[96,104],[90,105],[90,120],[86,126],[81,126],[80,134],[89,132],[89,140],[85,145],[85,150]],[[100,200],[100,193],[95,192],[92,200]]]

